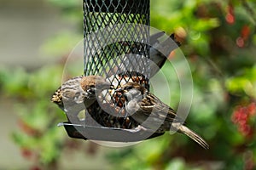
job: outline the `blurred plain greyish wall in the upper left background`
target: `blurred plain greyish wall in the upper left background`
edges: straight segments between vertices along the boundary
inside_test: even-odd
[[[36,68],[49,63],[52,58],[39,53],[42,44],[57,32],[77,27],[61,17],[60,8],[43,0],[0,0],[0,4],[2,65]]]

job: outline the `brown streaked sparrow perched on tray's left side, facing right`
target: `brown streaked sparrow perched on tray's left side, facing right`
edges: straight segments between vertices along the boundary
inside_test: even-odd
[[[111,84],[100,76],[73,77],[64,82],[50,100],[67,114],[67,118],[76,117],[79,111],[96,102],[96,97],[100,98],[96,96],[96,91],[108,88],[111,88]]]

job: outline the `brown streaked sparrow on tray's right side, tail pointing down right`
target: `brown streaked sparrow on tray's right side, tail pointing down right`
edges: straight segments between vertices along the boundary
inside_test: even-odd
[[[177,131],[195,140],[204,149],[209,145],[197,133],[186,127],[183,119],[168,105],[163,103],[154,94],[150,94],[137,82],[127,82],[122,88],[117,89],[125,98],[125,110],[136,122],[143,127],[153,129],[156,133],[169,130]]]

